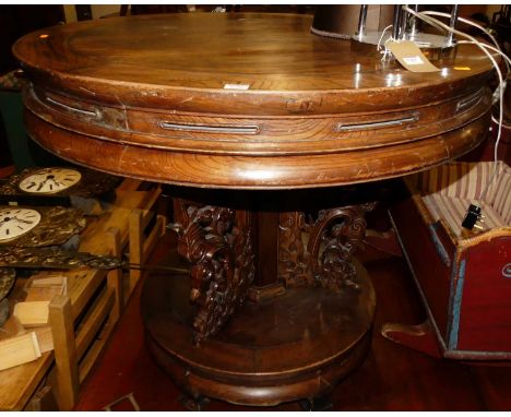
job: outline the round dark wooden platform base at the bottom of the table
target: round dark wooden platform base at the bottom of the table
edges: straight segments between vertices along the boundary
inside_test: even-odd
[[[358,267],[360,289],[294,288],[247,301],[218,335],[193,343],[186,276],[150,277],[141,308],[156,362],[193,397],[270,406],[328,394],[370,347],[375,293]]]

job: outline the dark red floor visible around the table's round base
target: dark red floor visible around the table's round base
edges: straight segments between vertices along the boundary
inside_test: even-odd
[[[379,334],[384,322],[419,323],[424,311],[401,258],[366,263],[378,296],[372,349],[365,364],[333,395],[334,410],[509,410],[511,368],[439,360],[397,346]],[[186,410],[180,392],[152,361],[144,347],[140,288],[93,376],[83,386],[76,410]],[[212,401],[206,410],[248,410]],[[268,409],[268,408],[265,408]],[[272,410],[300,410],[298,403]]]

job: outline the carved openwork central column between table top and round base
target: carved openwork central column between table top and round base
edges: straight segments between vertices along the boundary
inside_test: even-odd
[[[365,235],[364,215],[376,203],[320,208],[314,215],[278,212],[278,201],[262,203],[273,212],[261,210],[261,202],[247,205],[235,210],[174,200],[171,229],[178,235],[178,253],[191,265],[190,301],[198,306],[189,323],[195,343],[221,332],[249,289],[257,294],[252,301],[295,287],[360,289],[353,254]]]

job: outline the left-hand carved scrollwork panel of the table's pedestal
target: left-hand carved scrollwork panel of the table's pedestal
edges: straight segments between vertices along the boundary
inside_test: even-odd
[[[175,200],[178,252],[192,266],[195,342],[216,334],[247,298],[254,277],[247,212]]]

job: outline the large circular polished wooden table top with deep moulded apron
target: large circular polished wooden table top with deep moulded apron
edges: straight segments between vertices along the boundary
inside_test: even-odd
[[[401,176],[483,139],[491,63],[476,47],[413,73],[310,25],[183,13],[28,34],[13,47],[29,80],[28,132],[112,174],[245,189]]]

